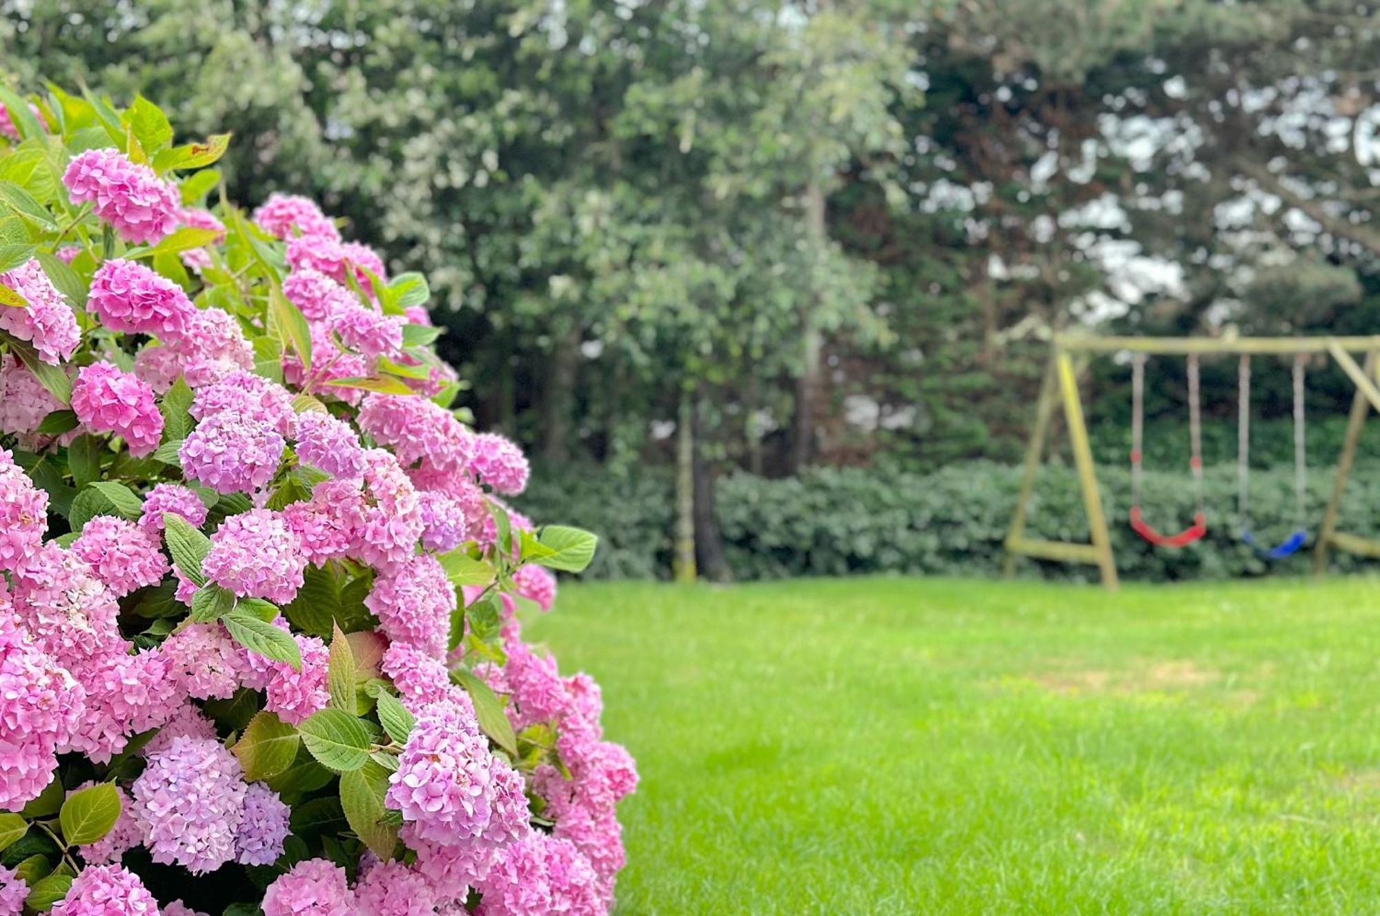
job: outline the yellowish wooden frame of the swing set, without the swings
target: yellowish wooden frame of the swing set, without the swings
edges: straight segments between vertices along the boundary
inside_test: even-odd
[[[1078,375],[1087,360],[1110,353],[1147,353],[1154,356],[1221,355],[1242,353],[1261,356],[1292,356],[1296,353],[1328,353],[1341,367],[1341,371],[1355,384],[1357,393],[1351,401],[1347,421],[1347,435],[1341,455],[1337,458],[1337,473],[1328,499],[1328,509],[1314,544],[1314,571],[1322,574],[1328,568],[1328,552],[1332,548],[1380,557],[1380,541],[1372,541],[1354,534],[1337,531],[1337,510],[1341,505],[1347,477],[1357,458],[1357,443],[1361,428],[1370,408],[1380,411],[1380,388],[1377,388],[1377,367],[1380,367],[1380,337],[1242,337],[1234,339],[1177,338],[1177,337],[1089,337],[1061,334],[1054,338],[1041,384],[1039,399],[1035,401],[1035,426],[1031,429],[1025,447],[1025,465],[1021,475],[1020,494],[1016,499],[1016,513],[1006,534],[1006,559],[1003,574],[1016,570],[1017,557],[1053,560],[1056,563],[1089,563],[1098,568],[1103,585],[1116,588],[1116,561],[1112,556],[1111,538],[1107,531],[1107,517],[1103,515],[1103,499],[1097,488],[1097,468],[1093,464],[1092,447],[1087,443],[1087,425],[1083,419],[1083,403],[1078,393]],[[1365,364],[1358,366],[1352,353],[1365,353]],[[1031,497],[1035,494],[1035,475],[1045,452],[1045,439],[1054,421],[1056,408],[1061,407],[1070,443],[1074,450],[1074,465],[1083,494],[1083,512],[1087,517],[1089,544],[1068,541],[1046,541],[1025,535],[1025,519]]]

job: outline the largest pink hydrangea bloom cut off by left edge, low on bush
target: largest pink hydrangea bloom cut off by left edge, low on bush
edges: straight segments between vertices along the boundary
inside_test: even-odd
[[[18,811],[52,781],[58,744],[80,721],[86,691],[4,604],[0,600],[0,810]]]

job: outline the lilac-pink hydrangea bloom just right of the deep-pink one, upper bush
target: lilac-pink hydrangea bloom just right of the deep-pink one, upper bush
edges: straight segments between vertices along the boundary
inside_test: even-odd
[[[182,440],[178,458],[186,476],[217,492],[258,490],[277,470],[287,440],[243,414],[207,417]]]

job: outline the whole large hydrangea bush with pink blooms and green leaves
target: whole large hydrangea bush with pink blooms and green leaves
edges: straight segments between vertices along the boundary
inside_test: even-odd
[[[116,110],[0,90],[0,916],[604,913],[636,770],[522,640],[428,287]]]

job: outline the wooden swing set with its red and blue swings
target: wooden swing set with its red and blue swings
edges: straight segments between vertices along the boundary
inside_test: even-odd
[[[1141,538],[1161,548],[1185,548],[1208,534],[1208,512],[1203,502],[1202,415],[1199,404],[1198,361],[1202,356],[1238,356],[1238,418],[1236,418],[1236,510],[1241,520],[1241,539],[1260,557],[1282,560],[1308,544],[1307,517],[1307,455],[1304,448],[1304,368],[1310,355],[1326,353],[1341,367],[1357,386],[1347,421],[1337,476],[1332,497],[1323,512],[1322,526],[1314,541],[1314,570],[1323,572],[1332,548],[1380,557],[1380,542],[1337,531],[1337,512],[1341,495],[1357,457],[1357,443],[1370,408],[1380,410],[1380,386],[1376,370],[1380,363],[1380,337],[1305,337],[1305,338],[1097,338],[1086,335],[1058,335],[1054,339],[1045,381],[1035,404],[1035,426],[1025,450],[1025,469],[1021,477],[1016,515],[1006,535],[1005,572],[1012,574],[1016,557],[1025,556],[1058,563],[1089,563],[1097,566],[1103,584],[1116,588],[1116,564],[1112,557],[1107,519],[1097,490],[1096,466],[1087,441],[1087,426],[1078,395],[1078,374],[1093,356],[1130,353],[1132,357],[1132,505],[1130,527]],[[1358,366],[1352,353],[1363,353]],[[1250,357],[1293,356],[1293,446],[1294,446],[1294,512],[1297,528],[1276,545],[1257,542],[1250,531]],[[1150,356],[1185,356],[1188,381],[1188,469],[1192,476],[1195,509],[1192,523],[1183,531],[1163,534],[1145,520],[1141,510],[1141,464],[1145,412],[1145,360]],[[1035,492],[1035,475],[1045,450],[1045,437],[1057,407],[1063,408],[1065,426],[1074,450],[1083,510],[1087,516],[1090,544],[1046,541],[1025,535],[1025,517]]]

